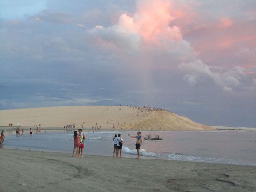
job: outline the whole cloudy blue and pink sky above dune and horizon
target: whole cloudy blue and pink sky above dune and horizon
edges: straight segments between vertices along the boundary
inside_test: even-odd
[[[2,0],[0,110],[165,108],[256,127],[254,0]]]

